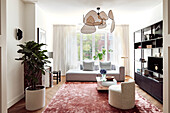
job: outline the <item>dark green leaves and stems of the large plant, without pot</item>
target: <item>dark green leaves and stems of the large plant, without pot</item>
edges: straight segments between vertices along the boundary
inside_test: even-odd
[[[48,57],[45,55],[47,50],[41,50],[41,47],[45,44],[36,43],[34,41],[25,42],[25,44],[19,44],[21,49],[17,52],[23,54],[22,57],[16,58],[16,60],[21,60],[27,68],[25,73],[25,78],[27,79],[27,85],[30,86],[29,89],[36,90],[37,83],[42,74],[45,74],[44,65],[48,63]],[[50,63],[50,62],[49,62]]]

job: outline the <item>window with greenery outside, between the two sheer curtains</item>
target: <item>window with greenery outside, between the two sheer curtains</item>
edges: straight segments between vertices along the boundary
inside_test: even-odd
[[[93,60],[93,56],[103,48],[107,51],[103,60],[112,61],[113,55],[112,53],[108,52],[109,49],[113,50],[112,40],[113,37],[111,33],[95,32],[93,34],[81,34],[80,32],[77,32],[79,61]]]

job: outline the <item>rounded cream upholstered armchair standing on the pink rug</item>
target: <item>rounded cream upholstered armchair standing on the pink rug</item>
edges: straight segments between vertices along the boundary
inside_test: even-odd
[[[135,106],[135,82],[122,82],[109,87],[109,104],[119,109],[131,109]]]

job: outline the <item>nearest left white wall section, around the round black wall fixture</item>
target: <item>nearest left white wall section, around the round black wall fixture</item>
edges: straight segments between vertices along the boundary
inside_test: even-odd
[[[23,39],[16,40],[16,29],[23,31]],[[8,108],[24,97],[24,73],[15,58],[17,44],[25,41],[25,4],[21,0],[7,0],[7,104]]]

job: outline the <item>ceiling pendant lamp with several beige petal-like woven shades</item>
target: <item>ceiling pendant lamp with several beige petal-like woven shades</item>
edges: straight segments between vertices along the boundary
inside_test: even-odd
[[[98,13],[94,10],[89,11],[86,16],[83,15],[84,26],[81,28],[81,33],[91,34],[96,32],[96,27],[98,29],[106,28],[106,20],[109,18],[112,20],[110,32],[112,33],[115,29],[115,21],[112,10],[109,11],[108,16],[104,11],[99,12],[100,7],[97,7]]]

